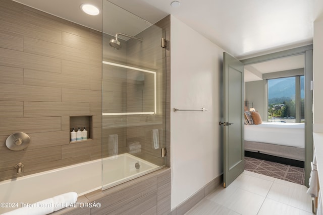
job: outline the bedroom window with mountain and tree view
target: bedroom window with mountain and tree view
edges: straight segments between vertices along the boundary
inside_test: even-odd
[[[304,122],[304,76],[268,80],[268,121]]]

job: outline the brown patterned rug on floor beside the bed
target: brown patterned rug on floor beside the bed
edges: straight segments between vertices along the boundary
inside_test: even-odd
[[[304,185],[304,168],[245,157],[244,169]]]

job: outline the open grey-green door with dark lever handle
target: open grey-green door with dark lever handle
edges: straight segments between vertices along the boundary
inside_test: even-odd
[[[223,53],[224,169],[227,187],[244,171],[244,65]]]

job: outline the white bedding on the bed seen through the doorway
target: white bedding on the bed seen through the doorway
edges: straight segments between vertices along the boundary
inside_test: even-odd
[[[304,148],[304,123],[262,122],[244,126],[244,140]]]

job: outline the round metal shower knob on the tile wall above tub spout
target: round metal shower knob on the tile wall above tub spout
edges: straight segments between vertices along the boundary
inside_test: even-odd
[[[6,146],[13,151],[23,150],[28,147],[30,137],[23,132],[13,133],[6,139]]]

